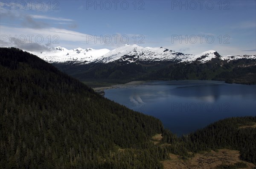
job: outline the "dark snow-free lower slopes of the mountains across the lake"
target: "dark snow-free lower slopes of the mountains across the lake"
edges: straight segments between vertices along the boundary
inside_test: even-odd
[[[187,79],[256,84],[256,65],[255,61],[250,59],[227,62],[215,58],[204,64],[198,62],[134,62],[130,64],[110,62],[79,65],[67,62],[53,63],[53,65],[82,82],[127,83],[140,80]],[[87,84],[90,85],[90,83]]]

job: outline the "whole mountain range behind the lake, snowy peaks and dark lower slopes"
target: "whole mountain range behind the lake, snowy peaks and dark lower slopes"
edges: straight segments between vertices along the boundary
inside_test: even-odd
[[[93,82],[86,83],[90,87],[136,80],[185,79],[256,84],[256,55],[221,56],[213,50],[192,55],[135,44],[112,51],[56,47],[31,53],[82,82]]]

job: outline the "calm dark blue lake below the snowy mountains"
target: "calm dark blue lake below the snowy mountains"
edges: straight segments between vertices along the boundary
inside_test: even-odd
[[[256,115],[256,85],[219,81],[153,81],[105,90],[105,97],[159,118],[177,135],[219,119]]]

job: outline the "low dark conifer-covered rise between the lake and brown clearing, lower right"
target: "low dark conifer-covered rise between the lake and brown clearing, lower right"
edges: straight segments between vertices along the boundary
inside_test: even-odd
[[[242,160],[256,164],[256,116],[220,120],[180,138],[164,130],[162,142],[172,144],[169,149],[176,148],[175,153],[184,157],[189,156],[186,152],[235,149]],[[180,152],[181,149],[185,150]]]

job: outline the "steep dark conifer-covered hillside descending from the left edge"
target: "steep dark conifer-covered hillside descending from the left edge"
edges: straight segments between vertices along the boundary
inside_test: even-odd
[[[139,168],[161,168],[158,154],[144,158],[142,149],[163,130],[159,120],[99,96],[37,56],[0,48],[0,96],[0,168],[131,168],[131,152],[113,160],[118,148],[141,149],[133,161]]]

